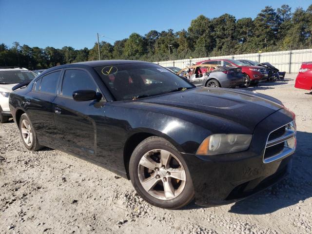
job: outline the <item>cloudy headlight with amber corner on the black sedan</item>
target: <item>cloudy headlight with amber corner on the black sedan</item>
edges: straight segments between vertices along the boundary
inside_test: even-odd
[[[200,144],[196,155],[222,155],[245,151],[249,148],[253,135],[214,134]]]

